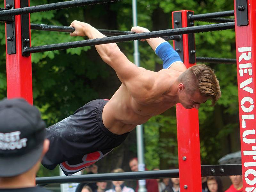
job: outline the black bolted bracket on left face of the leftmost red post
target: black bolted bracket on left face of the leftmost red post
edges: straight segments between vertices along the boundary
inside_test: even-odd
[[[14,7],[14,0],[6,0],[6,8],[11,9]],[[14,16],[3,16],[0,19],[6,22],[6,44],[7,54],[16,53],[16,39],[15,39],[15,18]]]

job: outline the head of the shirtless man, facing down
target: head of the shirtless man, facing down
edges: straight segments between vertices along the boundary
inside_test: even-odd
[[[213,70],[206,65],[194,65],[178,77],[179,102],[185,108],[199,108],[201,103],[220,98],[220,85]]]

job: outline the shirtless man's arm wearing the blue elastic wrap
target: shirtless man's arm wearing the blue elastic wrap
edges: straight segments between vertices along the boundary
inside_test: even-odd
[[[149,30],[143,27],[133,27],[131,31],[135,33],[148,32]],[[158,57],[163,60],[163,68],[170,68],[172,70],[184,72],[187,68],[180,60],[179,54],[173,50],[172,45],[165,41],[161,37],[142,39],[141,41],[147,40],[148,44],[155,51]]]

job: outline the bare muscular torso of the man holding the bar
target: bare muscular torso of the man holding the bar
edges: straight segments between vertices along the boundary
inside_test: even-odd
[[[177,103],[177,90],[173,88],[181,72],[171,69],[157,73],[144,68],[140,70],[145,76],[144,81],[128,86],[122,84],[103,109],[103,124],[115,134],[130,132],[136,125],[147,122]]]

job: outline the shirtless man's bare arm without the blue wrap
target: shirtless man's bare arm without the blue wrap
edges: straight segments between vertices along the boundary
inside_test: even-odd
[[[73,21],[70,26],[76,29],[70,34],[71,36],[88,36],[89,39],[106,37],[96,28],[84,22]],[[155,85],[157,73],[138,68],[126,58],[116,43],[95,45],[95,47],[103,61],[116,71],[118,78],[134,99],[141,99],[141,95],[147,96],[146,94]],[[140,91],[138,92],[138,90]]]

